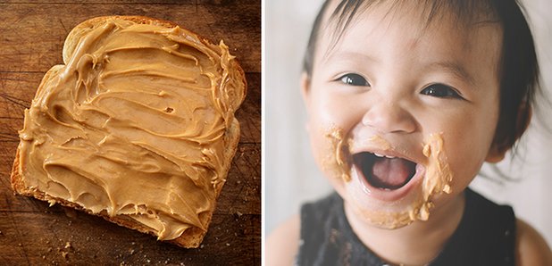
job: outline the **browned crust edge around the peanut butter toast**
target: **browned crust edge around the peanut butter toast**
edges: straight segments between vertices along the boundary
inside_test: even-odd
[[[137,24],[156,25],[166,29],[178,27],[176,24],[170,21],[161,21],[161,20],[156,20],[156,19],[147,18],[143,16],[97,17],[97,18],[93,18],[88,21],[82,22],[74,29],[71,30],[70,34],[65,40],[65,43],[63,46],[64,65],[55,65],[49,71],[46,72],[45,77],[42,79],[38,87],[36,98],[39,95],[45,93],[44,90],[47,83],[50,80],[55,79],[55,77],[59,76],[61,74],[61,71],[63,71],[63,67],[68,63],[70,63],[71,56],[73,56],[75,51],[78,49],[80,37],[85,36],[91,30],[96,29],[96,27],[101,27],[102,25],[105,24],[106,21],[113,21],[113,20],[131,21]],[[195,33],[192,33],[188,30],[184,32],[186,32],[187,35],[193,35],[197,37],[197,39],[199,39],[205,46],[211,47],[213,51],[215,51],[215,53],[221,54],[222,52],[221,46],[214,46],[211,43],[209,43],[207,40],[205,40],[203,37],[198,37]],[[182,247],[187,247],[187,248],[198,247],[201,244],[201,241],[203,240],[203,238],[205,237],[206,228],[208,227],[213,216],[214,207],[215,207],[214,204],[216,203],[216,199],[221,193],[222,185],[225,181],[228,171],[230,170],[231,159],[233,155],[236,153],[236,150],[238,147],[239,123],[238,123],[238,120],[235,117],[233,117],[233,112],[235,112],[235,110],[238,109],[238,106],[245,99],[245,96],[247,94],[247,82],[245,79],[245,73],[239,66],[238,61],[233,59],[233,57],[231,57],[231,59],[232,60],[230,61],[230,68],[232,68],[236,74],[230,78],[239,79],[239,80],[236,80],[236,82],[237,84],[241,84],[242,88],[241,88],[241,91],[238,90],[237,94],[232,94],[231,95],[232,98],[230,99],[230,108],[232,108],[233,111],[231,115],[231,121],[227,122],[227,128],[223,135],[224,143],[225,143],[223,160],[227,163],[222,163],[223,169],[220,170],[220,172],[222,173],[222,181],[220,182],[221,184],[213,185],[214,194],[215,194],[215,201],[213,202],[213,210],[211,210],[211,212],[202,212],[199,215],[199,220],[201,220],[201,224],[205,229],[192,226],[189,229],[184,230],[183,233],[180,235],[180,237],[176,237],[171,240],[165,240],[172,244],[180,245]],[[27,114],[28,112],[26,111],[26,116]],[[13,162],[13,169],[11,174],[11,183],[12,183],[13,190],[15,191],[16,194],[32,196],[39,200],[48,201],[51,204],[57,203],[57,204],[71,207],[83,212],[88,212],[90,214],[98,215],[103,217],[105,220],[109,220],[123,227],[129,228],[129,229],[135,229],[140,232],[151,234],[155,237],[159,237],[158,232],[156,232],[155,229],[152,229],[146,226],[145,224],[138,222],[137,220],[133,220],[126,215],[110,215],[105,210],[101,212],[92,212],[91,210],[83,207],[80,204],[71,202],[70,200],[64,199],[62,197],[48,195],[47,192],[41,191],[35,187],[29,186],[28,184],[26,184],[25,177],[23,176],[23,173],[26,172],[26,166],[23,163],[21,163],[21,158],[22,158],[21,145],[23,141],[24,139],[23,137],[21,137],[21,142],[20,142],[20,145],[18,146],[16,155],[15,155],[15,160]]]

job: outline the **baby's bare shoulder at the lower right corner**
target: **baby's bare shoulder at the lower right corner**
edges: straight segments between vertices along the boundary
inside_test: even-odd
[[[552,265],[552,251],[539,232],[520,219],[515,226],[516,265]]]

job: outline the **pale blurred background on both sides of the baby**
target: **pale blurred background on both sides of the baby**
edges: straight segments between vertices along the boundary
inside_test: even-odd
[[[552,90],[552,3],[522,1],[537,43],[542,85]],[[330,192],[330,185],[314,164],[305,131],[306,114],[299,89],[301,63],[314,16],[321,0],[265,1],[264,193],[265,234],[299,212],[305,201]],[[548,96],[550,101],[552,97]],[[489,165],[471,187],[500,204],[511,204],[517,217],[528,221],[552,245],[552,106],[533,119],[514,160],[498,168],[514,180],[498,177]],[[506,156],[508,157],[508,156]],[[265,235],[265,236],[267,236]]]

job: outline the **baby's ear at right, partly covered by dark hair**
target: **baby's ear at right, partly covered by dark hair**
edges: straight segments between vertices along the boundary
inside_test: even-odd
[[[520,106],[520,111],[517,112],[517,121],[515,121],[515,136],[511,140],[511,143],[504,144],[504,141],[498,141],[495,137],[493,144],[490,146],[489,154],[485,158],[486,162],[500,162],[506,156],[506,152],[512,148],[512,145],[522,137],[523,133],[529,128],[529,123],[531,122],[532,109],[531,105],[525,102]]]

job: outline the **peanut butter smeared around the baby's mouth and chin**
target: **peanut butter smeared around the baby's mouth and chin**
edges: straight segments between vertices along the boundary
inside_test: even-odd
[[[381,203],[378,203],[377,200],[371,202],[370,204],[372,205],[361,204],[359,202],[363,202],[365,198],[358,197],[369,197],[370,195],[365,195],[364,193],[360,193],[361,195],[351,194],[350,190],[347,190],[347,186],[350,186],[351,182],[356,182],[351,179],[351,171],[353,169],[350,163],[352,155],[349,152],[349,144],[345,139],[346,137],[342,129],[330,129],[330,132],[326,136],[329,137],[335,153],[329,156],[329,158],[334,158],[333,162],[330,160],[323,162],[324,169],[331,170],[332,173],[336,174],[336,178],[340,177],[343,179],[346,186],[344,193],[348,194],[344,195],[347,204],[353,206],[353,211],[362,220],[375,226],[386,229],[397,229],[415,220],[428,220],[434,198],[442,193],[450,194],[452,192],[451,182],[453,173],[450,170],[443,150],[442,133],[430,134],[425,139],[422,154],[428,160],[427,164],[423,165],[425,174],[422,182],[412,187],[413,191],[397,203],[401,207],[389,205],[387,210],[385,210],[385,207],[382,209]],[[368,141],[381,150],[393,149],[393,146],[387,140],[378,135],[371,137]],[[360,184],[358,185],[360,186]]]

